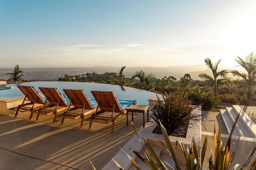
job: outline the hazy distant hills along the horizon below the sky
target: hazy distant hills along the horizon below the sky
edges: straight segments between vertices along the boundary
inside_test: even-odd
[[[0,68],[0,80],[7,80],[10,75],[7,72],[12,72],[13,68]],[[119,72],[118,67],[67,67],[67,68],[21,68],[23,70],[25,80],[58,80],[59,77],[64,77],[65,74],[68,75],[82,75],[88,72],[97,72],[99,74],[105,72]],[[164,76],[174,76],[177,80],[183,77],[185,74],[190,74],[191,78],[194,80],[200,80],[198,74],[206,73],[212,74],[210,69],[204,64],[194,65],[194,66],[169,66],[165,68],[158,67],[126,67],[124,69],[124,74],[126,77],[132,77],[136,71],[144,70],[145,72],[152,73],[158,78]]]

